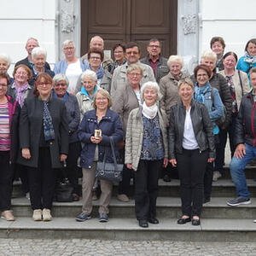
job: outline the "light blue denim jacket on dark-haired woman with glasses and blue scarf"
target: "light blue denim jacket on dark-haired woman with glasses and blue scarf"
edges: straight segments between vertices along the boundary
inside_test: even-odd
[[[198,84],[195,84],[195,90],[198,89]],[[212,99],[213,95],[213,99]],[[195,93],[194,93],[194,99],[195,99]],[[212,127],[214,130],[214,127],[217,125],[215,124],[215,121],[224,116],[224,105],[221,101],[221,98],[218,94],[218,90],[216,88],[213,88],[211,85],[207,89],[206,93],[204,94],[204,102],[203,104],[207,107],[208,113],[210,115],[210,119],[212,121]]]

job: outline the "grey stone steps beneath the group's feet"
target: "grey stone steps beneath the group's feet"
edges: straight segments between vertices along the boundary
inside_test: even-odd
[[[225,177],[212,183],[212,200],[204,205],[201,225],[191,223],[179,225],[181,216],[179,181],[165,183],[160,179],[157,201],[157,218],[160,224],[149,224],[148,229],[140,228],[134,213],[134,201],[117,201],[117,187],[113,189],[110,203],[109,222],[98,222],[97,206],[94,201],[93,218],[83,223],[75,221],[82,203],[54,203],[53,220],[34,222],[30,201],[21,196],[20,183],[14,184],[12,209],[15,222],[0,220],[1,238],[100,238],[113,240],[172,240],[172,241],[256,241],[256,177],[253,167],[247,167],[247,183],[252,193],[252,204],[228,207],[226,201],[236,197],[236,189],[230,181],[229,170]],[[132,188],[131,188],[132,190]]]

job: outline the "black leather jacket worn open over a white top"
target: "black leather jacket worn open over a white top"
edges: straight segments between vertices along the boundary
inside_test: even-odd
[[[215,158],[215,143],[212,133],[212,122],[207,107],[192,100],[190,116],[195,139],[200,151],[209,150],[209,157]],[[169,127],[169,159],[175,159],[176,153],[183,153],[183,131],[186,109],[181,101],[171,108]]]

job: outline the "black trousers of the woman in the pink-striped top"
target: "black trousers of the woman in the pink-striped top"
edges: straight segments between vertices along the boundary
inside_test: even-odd
[[[0,208],[10,209],[14,168],[9,164],[9,151],[0,151]]]

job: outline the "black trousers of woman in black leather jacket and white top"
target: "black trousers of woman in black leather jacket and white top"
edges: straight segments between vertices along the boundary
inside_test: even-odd
[[[208,150],[200,152],[199,149],[184,148],[183,154],[177,154],[183,215],[201,215],[208,155]]]

